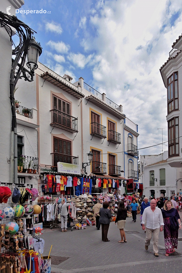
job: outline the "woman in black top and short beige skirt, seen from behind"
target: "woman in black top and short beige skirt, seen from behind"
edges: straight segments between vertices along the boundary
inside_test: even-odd
[[[117,211],[117,216],[116,216],[116,221],[115,224],[117,223],[117,227],[120,229],[120,234],[121,234],[121,241],[118,241],[118,243],[126,243],[126,235],[124,232],[124,227],[126,223],[126,217],[127,217],[127,211],[124,207],[124,202],[120,201],[118,211]],[[124,238],[124,240],[123,240]]]

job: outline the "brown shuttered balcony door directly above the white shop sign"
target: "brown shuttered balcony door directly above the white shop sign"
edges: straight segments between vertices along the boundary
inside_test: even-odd
[[[53,166],[57,167],[57,162],[72,163],[71,141],[54,137],[53,150]]]

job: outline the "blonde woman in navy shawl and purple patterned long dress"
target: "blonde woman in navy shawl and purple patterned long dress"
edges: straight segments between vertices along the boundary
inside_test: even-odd
[[[181,229],[181,220],[177,209],[173,208],[171,201],[166,201],[164,203],[162,215],[164,220],[164,241],[166,256],[169,256],[170,253],[175,251],[174,248],[177,249],[178,243],[178,229],[173,228],[173,219],[176,219],[176,225],[179,225],[179,229]]]

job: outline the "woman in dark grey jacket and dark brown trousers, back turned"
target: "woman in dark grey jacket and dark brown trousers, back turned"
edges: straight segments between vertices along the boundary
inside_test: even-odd
[[[111,216],[111,211],[108,209],[109,203],[108,202],[103,202],[103,207],[100,208],[99,214],[99,222],[101,223],[102,227],[102,241],[104,242],[109,242],[107,238],[107,233],[110,225],[110,219],[112,218]]]

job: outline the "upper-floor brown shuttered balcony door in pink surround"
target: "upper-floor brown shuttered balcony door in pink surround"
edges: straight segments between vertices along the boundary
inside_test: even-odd
[[[71,127],[70,103],[53,96],[53,122]]]

